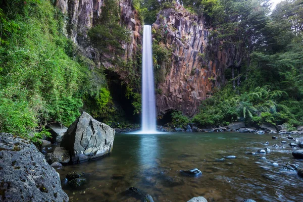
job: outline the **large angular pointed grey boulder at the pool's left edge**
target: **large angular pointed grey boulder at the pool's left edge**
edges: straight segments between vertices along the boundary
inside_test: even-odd
[[[64,134],[61,146],[69,151],[73,163],[79,163],[109,154],[114,138],[114,129],[83,112]]]

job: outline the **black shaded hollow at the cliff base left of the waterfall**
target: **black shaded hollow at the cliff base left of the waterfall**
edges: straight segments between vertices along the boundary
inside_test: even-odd
[[[132,106],[132,97],[128,99],[126,94],[126,84],[121,80],[118,73],[105,70],[106,78],[108,81],[108,87],[113,98],[115,106],[118,108],[117,121],[127,122],[131,124],[140,123],[140,117],[138,114],[133,114],[135,108]]]

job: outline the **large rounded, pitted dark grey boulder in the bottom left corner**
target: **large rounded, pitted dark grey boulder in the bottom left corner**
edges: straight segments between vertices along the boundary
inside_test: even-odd
[[[1,201],[68,201],[60,177],[35,145],[0,133]]]

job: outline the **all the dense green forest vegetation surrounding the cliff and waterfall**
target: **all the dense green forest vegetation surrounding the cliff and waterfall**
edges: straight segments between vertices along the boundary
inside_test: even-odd
[[[0,1],[0,131],[26,136],[34,129],[43,131],[49,122],[69,126],[83,110],[108,123],[119,116],[104,67],[96,67],[66,37],[66,16],[54,3]],[[175,3],[132,2],[145,24],[153,24],[161,10],[174,8]],[[238,120],[246,124],[286,123],[292,130],[303,124],[301,0],[281,2],[273,10],[268,1],[262,0],[178,3],[205,19],[211,30],[209,37],[222,41],[221,48],[232,50],[233,64],[225,70],[228,82],[214,89],[199,113],[189,119],[174,112],[173,125],[224,125]],[[111,63],[122,68],[137,66],[140,70],[140,62],[120,57],[121,41],[128,41],[129,31],[120,23],[119,6],[114,0],[105,1],[98,22],[85,34],[87,44],[101,54],[113,56],[108,59]],[[154,57],[157,62],[168,54],[154,50]],[[134,75],[140,72],[129,73],[133,79],[126,97],[133,99],[138,114],[140,85]]]

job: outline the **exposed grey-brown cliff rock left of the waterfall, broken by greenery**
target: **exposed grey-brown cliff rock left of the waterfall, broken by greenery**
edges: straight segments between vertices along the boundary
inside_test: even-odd
[[[133,59],[138,44],[141,44],[141,22],[138,18],[137,11],[132,6],[131,0],[120,0],[118,1],[121,15],[120,24],[126,26],[130,30],[130,42],[123,43],[122,47],[125,49],[123,58]],[[65,15],[66,35],[71,38],[80,47],[85,47],[82,49],[82,53],[88,58],[94,60],[97,65],[99,64],[100,54],[92,47],[85,46],[85,39],[87,38],[87,30],[96,24],[96,19],[100,16],[102,12],[102,7],[104,5],[104,0],[57,0],[56,6]],[[108,68],[111,67],[109,63],[103,63],[103,65]],[[117,73],[121,73],[122,79],[127,80],[127,74],[123,73],[121,70],[117,69]]]

